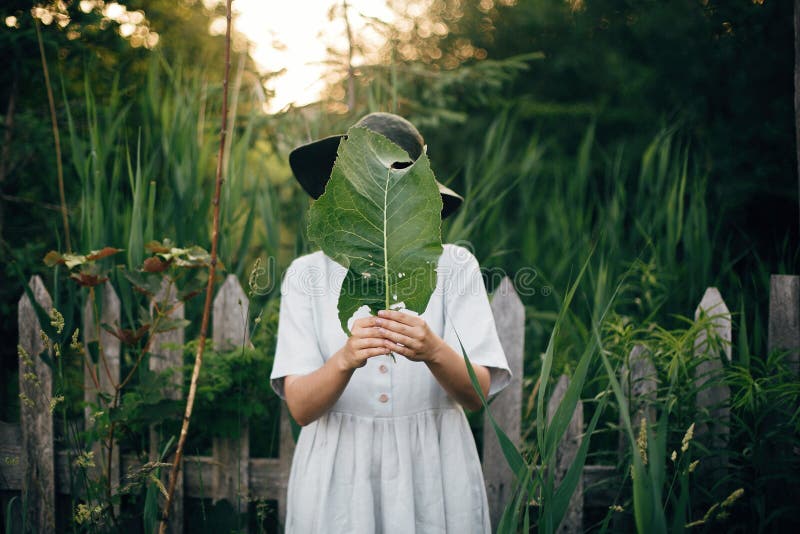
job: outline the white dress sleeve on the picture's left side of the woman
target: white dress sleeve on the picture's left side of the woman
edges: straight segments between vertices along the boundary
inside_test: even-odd
[[[313,291],[303,283],[308,280],[310,277],[303,276],[303,267],[295,260],[281,283],[278,342],[270,385],[282,399],[286,398],[283,389],[285,376],[305,375],[325,363],[314,326]]]

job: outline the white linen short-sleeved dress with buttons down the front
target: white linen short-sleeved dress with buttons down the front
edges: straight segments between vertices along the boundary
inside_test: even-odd
[[[297,258],[287,270],[271,374],[282,398],[283,377],[318,369],[345,344],[337,312],[345,272],[323,252]],[[363,307],[356,317],[367,315]],[[466,248],[444,245],[422,317],[461,354],[458,330],[470,360],[489,368],[490,395],[508,384],[483,278]],[[285,528],[298,534],[491,532],[466,416],[424,363],[370,358],[333,407],[303,427]]]

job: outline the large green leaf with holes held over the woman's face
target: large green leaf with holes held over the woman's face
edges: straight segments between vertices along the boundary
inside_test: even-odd
[[[372,313],[422,313],[436,287],[442,253],[442,199],[428,158],[411,162],[384,136],[351,128],[339,144],[325,193],[309,212],[308,236],[347,269],[339,320]]]

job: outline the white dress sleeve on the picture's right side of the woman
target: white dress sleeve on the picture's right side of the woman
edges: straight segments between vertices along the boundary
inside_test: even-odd
[[[463,354],[463,344],[470,362],[489,369],[489,395],[494,395],[511,381],[511,371],[497,336],[478,260],[463,247],[453,246],[447,253],[452,261],[448,262],[451,273],[444,287],[444,340],[458,354]]]

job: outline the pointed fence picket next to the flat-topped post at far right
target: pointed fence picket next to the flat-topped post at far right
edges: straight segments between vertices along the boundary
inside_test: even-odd
[[[732,332],[730,310],[717,288],[706,289],[694,318],[698,320],[701,316],[711,319],[712,335],[716,339],[709,340],[708,331],[702,330],[694,343],[695,357],[703,359],[695,368],[695,385],[698,388],[696,406],[700,414],[708,412],[707,419],[697,424],[696,435],[705,441],[711,451],[721,451],[728,445],[731,411],[731,391],[723,379],[721,357],[724,354],[731,361]],[[722,354],[718,348],[722,349]],[[720,456],[708,462],[704,469],[714,470],[725,463],[726,459]]]

